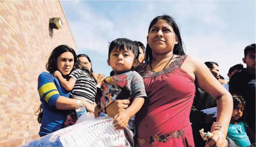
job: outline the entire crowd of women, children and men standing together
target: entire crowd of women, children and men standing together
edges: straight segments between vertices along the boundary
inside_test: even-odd
[[[229,69],[186,55],[179,27],[169,15],[150,22],[146,47],[127,38],[108,47],[110,76],[93,73],[85,54],[56,47],[38,77],[42,102],[39,135],[73,125],[79,99],[88,115],[114,117],[126,132],[126,146],[246,147],[255,143],[255,43]],[[242,53],[242,49],[241,49]],[[145,62],[144,62],[145,61]],[[202,110],[217,107],[217,117]],[[199,130],[213,133],[205,142]]]

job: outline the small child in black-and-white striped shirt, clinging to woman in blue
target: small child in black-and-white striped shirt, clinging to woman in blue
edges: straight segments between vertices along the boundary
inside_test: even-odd
[[[53,75],[58,78],[61,85],[66,90],[71,90],[70,98],[85,100],[86,110],[94,113],[94,108],[96,106],[95,95],[97,92],[97,82],[93,77],[92,72],[89,71],[84,63],[82,63],[81,61],[77,60],[74,67],[75,70],[73,70],[72,73],[69,75],[68,81],[61,76],[60,71],[55,71]],[[72,110],[66,118],[64,127],[73,125],[74,123],[76,123],[76,120],[76,111]]]

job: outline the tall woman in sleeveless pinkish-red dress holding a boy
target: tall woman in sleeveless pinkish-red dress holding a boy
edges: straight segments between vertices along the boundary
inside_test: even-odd
[[[232,96],[203,62],[185,55],[174,19],[169,15],[154,18],[147,43],[146,63],[136,69],[144,78],[148,96],[136,116],[137,146],[194,147],[189,114],[199,86],[217,99],[217,121],[222,124],[221,131],[213,131],[208,145],[226,147]],[[129,102],[125,100],[111,104],[108,115],[124,111],[126,104]]]

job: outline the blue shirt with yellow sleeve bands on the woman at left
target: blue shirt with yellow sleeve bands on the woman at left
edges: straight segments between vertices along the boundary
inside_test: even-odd
[[[70,92],[64,89],[57,78],[43,72],[38,77],[38,92],[42,102],[43,118],[39,136],[45,136],[63,128],[68,111],[56,109],[58,97],[69,97]]]

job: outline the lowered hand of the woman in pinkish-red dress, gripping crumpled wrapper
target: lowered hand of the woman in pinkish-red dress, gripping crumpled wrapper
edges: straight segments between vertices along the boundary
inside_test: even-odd
[[[221,130],[215,130],[212,132],[214,135],[211,141],[206,147],[228,147],[228,141],[226,140],[226,135]]]

